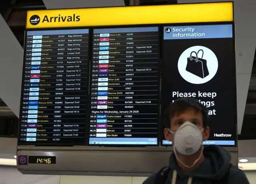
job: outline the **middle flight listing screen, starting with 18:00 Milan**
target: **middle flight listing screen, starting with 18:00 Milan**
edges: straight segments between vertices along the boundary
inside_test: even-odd
[[[157,145],[158,27],[93,30],[90,145]]]

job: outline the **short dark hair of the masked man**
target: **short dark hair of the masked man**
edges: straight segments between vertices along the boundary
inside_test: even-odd
[[[182,114],[188,108],[194,109],[196,112],[201,112],[203,115],[203,127],[206,128],[209,124],[208,109],[200,101],[193,98],[180,98],[171,103],[164,112],[164,128],[170,129],[171,118],[176,113]]]

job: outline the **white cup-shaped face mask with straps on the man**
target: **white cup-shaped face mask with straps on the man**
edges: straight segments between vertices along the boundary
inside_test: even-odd
[[[204,129],[199,130],[196,125],[189,121],[184,122],[176,132],[169,130],[170,133],[174,134],[174,154],[176,155],[177,160],[179,159],[177,157],[176,151],[183,155],[191,155],[196,153],[201,148],[203,141],[203,130]],[[201,156],[202,152],[200,157],[195,160],[194,164],[196,164]],[[185,164],[183,165],[186,167],[193,167],[194,164],[192,166],[186,166]]]

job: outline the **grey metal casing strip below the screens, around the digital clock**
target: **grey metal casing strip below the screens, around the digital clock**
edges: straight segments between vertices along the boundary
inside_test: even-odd
[[[237,148],[231,152],[233,165],[238,165]],[[56,164],[18,165],[23,174],[85,176],[150,176],[168,165],[172,147],[35,147],[18,146],[19,155],[56,156]]]

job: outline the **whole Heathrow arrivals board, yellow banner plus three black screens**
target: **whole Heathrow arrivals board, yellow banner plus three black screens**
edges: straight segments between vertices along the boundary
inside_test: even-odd
[[[171,145],[160,111],[188,96],[204,143],[236,146],[233,21],[232,2],[28,11],[18,145]]]

